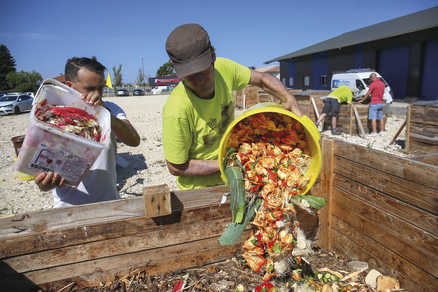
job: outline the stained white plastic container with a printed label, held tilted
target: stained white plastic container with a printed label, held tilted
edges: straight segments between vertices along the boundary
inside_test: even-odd
[[[42,172],[56,172],[66,179],[67,185],[77,186],[102,150],[109,145],[111,116],[104,107],[97,106],[93,109],[90,104],[81,100],[81,93],[67,85],[54,79],[44,82],[46,81],[56,86],[41,86],[35,96],[30,124],[15,170],[35,177]],[[100,141],[74,135],[35,118],[38,107],[49,105],[77,107],[95,116],[101,128]]]

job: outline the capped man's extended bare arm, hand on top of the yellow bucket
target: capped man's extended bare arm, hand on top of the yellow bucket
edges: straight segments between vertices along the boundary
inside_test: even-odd
[[[276,77],[259,71],[250,69],[251,78],[248,85],[254,85],[265,90],[270,95],[275,96],[285,103],[284,108],[290,110],[298,116],[302,117],[303,111],[300,108],[295,97],[287,90],[286,86]]]

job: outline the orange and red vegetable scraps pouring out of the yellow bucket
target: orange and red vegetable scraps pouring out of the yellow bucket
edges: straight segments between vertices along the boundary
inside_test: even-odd
[[[300,271],[290,271],[290,264],[307,261],[312,249],[311,241],[299,227],[294,206],[311,213],[311,207],[320,209],[325,205],[322,198],[299,195],[312,175],[307,174],[312,153],[307,148],[305,128],[284,114],[254,114],[234,127],[229,146],[229,153],[233,153],[227,168],[240,167],[241,176],[227,179],[244,181],[246,202],[261,201],[250,222],[258,231],[244,243],[242,256],[255,272],[265,265],[264,281],[288,272],[299,280]],[[231,172],[226,169],[225,173]],[[233,204],[235,191],[230,189]],[[239,218],[233,213],[234,217]]]

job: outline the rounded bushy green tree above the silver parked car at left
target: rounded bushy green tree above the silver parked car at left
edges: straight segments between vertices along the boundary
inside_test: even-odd
[[[38,72],[11,71],[6,75],[9,88],[17,92],[35,92],[42,82],[42,76]]]

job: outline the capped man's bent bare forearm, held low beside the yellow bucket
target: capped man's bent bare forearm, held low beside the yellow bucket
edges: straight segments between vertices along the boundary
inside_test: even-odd
[[[219,172],[218,160],[189,159],[183,164],[167,161],[167,168],[175,176],[205,176]]]

